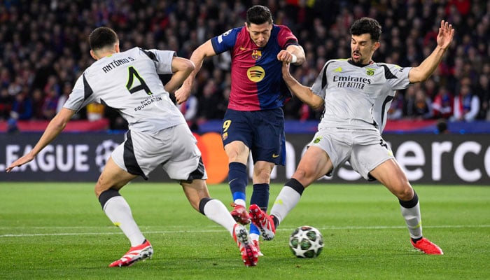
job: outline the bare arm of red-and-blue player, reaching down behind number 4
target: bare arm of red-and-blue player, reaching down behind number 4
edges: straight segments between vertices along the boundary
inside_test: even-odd
[[[197,49],[193,51],[193,54],[190,55],[190,61],[194,63],[195,69],[190,73],[190,75],[184,80],[181,88],[175,91],[175,99],[178,104],[182,104],[186,102],[186,100],[190,96],[190,91],[193,89],[194,79],[197,74],[201,70],[202,62],[206,57],[212,57],[216,55],[214,52],[213,44],[211,44],[211,40],[206,41]]]

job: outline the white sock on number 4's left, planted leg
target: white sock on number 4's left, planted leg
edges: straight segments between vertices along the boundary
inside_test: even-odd
[[[111,197],[104,205],[104,213],[114,225],[123,230],[127,239],[130,239],[132,247],[143,244],[145,237],[134,221],[130,205],[127,204],[124,197]]]

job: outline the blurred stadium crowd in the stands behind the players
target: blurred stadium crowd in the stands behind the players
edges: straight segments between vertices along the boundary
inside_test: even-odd
[[[3,0],[0,5],[0,121],[50,120],[89,66],[87,36],[107,26],[120,35],[121,50],[175,50],[190,57],[212,36],[244,25],[246,9],[268,6],[277,25],[287,25],[304,46],[307,61],[293,67],[311,85],[328,59],[349,57],[352,22],[363,16],[383,27],[374,62],[416,66],[435,46],[441,20],[456,29],[454,43],[426,82],[399,91],[389,119],[490,121],[490,1],[479,0]],[[165,80],[168,77],[162,76]],[[230,55],[204,61],[193,96],[180,106],[190,124],[221,119],[230,91]],[[318,119],[295,97],[284,106],[287,119]],[[87,106],[76,118],[106,117],[124,128],[102,105]]]

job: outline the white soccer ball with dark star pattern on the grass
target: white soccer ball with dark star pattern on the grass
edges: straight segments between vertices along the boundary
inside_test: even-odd
[[[289,237],[289,248],[297,258],[316,258],[323,249],[323,237],[316,228],[303,225]]]

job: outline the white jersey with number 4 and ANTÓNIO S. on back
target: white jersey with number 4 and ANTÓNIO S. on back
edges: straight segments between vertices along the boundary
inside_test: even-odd
[[[96,102],[119,111],[130,130],[158,132],[186,123],[158,74],[172,74],[174,51],[132,48],[97,60],[83,71],[64,108]]]

